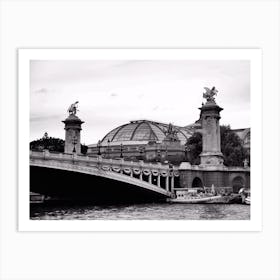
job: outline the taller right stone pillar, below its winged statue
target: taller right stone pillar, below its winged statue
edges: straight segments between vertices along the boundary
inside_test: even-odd
[[[200,154],[201,165],[223,165],[221,153],[220,112],[215,101],[207,101],[201,108],[202,153]]]

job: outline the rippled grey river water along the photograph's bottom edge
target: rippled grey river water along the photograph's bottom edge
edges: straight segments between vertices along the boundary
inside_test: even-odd
[[[249,220],[243,204],[31,205],[32,220]]]

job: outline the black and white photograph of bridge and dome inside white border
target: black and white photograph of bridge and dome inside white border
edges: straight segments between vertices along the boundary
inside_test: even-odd
[[[30,60],[30,219],[250,220],[250,60]]]

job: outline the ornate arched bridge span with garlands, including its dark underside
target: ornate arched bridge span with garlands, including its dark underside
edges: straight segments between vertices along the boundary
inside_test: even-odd
[[[123,193],[125,185],[127,187],[124,192],[129,190],[129,196],[145,194],[146,200],[151,194],[154,198],[172,197],[174,188],[179,187],[178,167],[161,163],[132,162],[44,150],[30,151],[30,168],[34,171],[30,172],[31,191],[49,195],[63,195],[63,192],[73,192],[75,188],[80,191],[73,193],[79,195],[86,185],[85,195],[97,197],[102,193],[103,198],[112,197],[118,195],[118,190]],[[86,177],[81,182],[77,174]],[[131,193],[133,190],[134,194]]]

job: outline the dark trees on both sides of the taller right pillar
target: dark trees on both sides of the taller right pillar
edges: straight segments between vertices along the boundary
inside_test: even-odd
[[[229,125],[221,125],[221,151],[226,166],[243,166],[246,152],[242,140]],[[199,155],[202,152],[202,135],[194,133],[187,141],[188,160],[191,164],[200,164]]]

